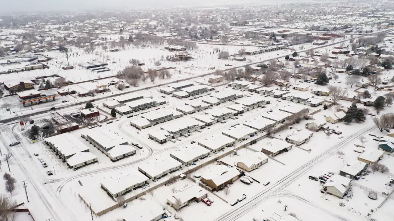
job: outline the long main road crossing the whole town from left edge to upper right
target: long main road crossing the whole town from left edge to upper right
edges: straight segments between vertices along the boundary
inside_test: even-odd
[[[385,30],[385,31],[377,32],[377,33],[389,32],[389,31],[392,31],[392,30],[394,30],[394,29],[388,29],[388,30]],[[374,33],[374,35],[376,35],[377,33]],[[359,36],[353,37],[352,39],[358,39],[360,37],[364,37],[364,35],[359,35]],[[317,46],[316,48],[313,48],[313,49],[316,50],[318,48],[325,48],[325,47],[328,47],[328,46],[333,46],[335,44],[340,44],[340,43],[345,42],[345,41],[349,41],[349,39],[345,39],[345,40],[342,40],[342,41],[334,42],[334,43],[331,43],[331,44],[325,44],[325,45]],[[300,53],[300,52],[305,52],[307,50],[310,50],[310,49],[299,50],[297,52]],[[262,60],[262,61],[258,61],[258,62],[247,63],[247,64],[244,64],[244,65],[241,65],[241,66],[227,68],[227,69],[225,69],[223,71],[227,72],[229,70],[236,69],[236,68],[243,68],[243,67],[248,66],[248,65],[268,62],[268,61],[271,61],[271,60],[274,60],[274,59],[280,59],[280,58],[286,57],[287,55],[290,56],[290,55],[292,55],[292,53],[286,54],[286,55],[282,55],[282,56],[278,56],[278,57],[273,57],[271,59],[266,59],[266,60]],[[153,85],[153,86],[150,86],[150,87],[139,88],[137,90],[130,90],[130,91],[122,92],[122,93],[119,93],[119,94],[111,94],[109,96],[103,96],[103,97],[100,97],[100,98],[93,98],[93,99],[95,101],[99,101],[99,100],[103,100],[103,99],[107,99],[107,98],[113,98],[113,97],[121,96],[123,94],[130,94],[130,93],[133,93],[133,92],[149,90],[149,89],[152,89],[152,88],[155,88],[155,87],[161,87],[161,86],[168,85],[168,84],[171,84],[171,83],[177,83],[177,82],[180,82],[180,81],[187,81],[187,80],[194,79],[194,78],[197,78],[197,77],[204,77],[204,76],[208,76],[208,75],[211,75],[211,74],[214,74],[214,72],[210,72],[210,73],[207,73],[207,74],[202,74],[202,75],[199,75],[199,76],[193,76],[193,77],[188,77],[188,78],[184,78],[184,79],[179,79],[179,80],[176,80],[176,81],[171,81],[171,82],[162,83],[162,84],[158,84],[158,85]],[[79,101],[79,102],[74,102],[74,103],[67,103],[64,106],[57,107],[56,110],[66,109],[66,108],[74,107],[74,106],[78,106],[78,105],[84,105],[86,102],[87,101]],[[20,118],[32,117],[32,116],[35,116],[35,115],[38,115],[38,114],[48,113],[50,111],[51,110],[49,110],[49,109],[48,110],[41,110],[41,111],[33,112],[33,113],[30,113],[30,114],[24,114],[24,115],[12,117],[12,118],[7,118],[7,119],[0,120],[0,123],[9,123],[9,122],[13,122],[14,120],[19,120]]]

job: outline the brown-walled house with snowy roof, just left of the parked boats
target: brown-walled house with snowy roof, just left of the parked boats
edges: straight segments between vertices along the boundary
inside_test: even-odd
[[[227,184],[237,180],[240,175],[240,171],[234,167],[228,167],[223,164],[215,165],[201,175],[201,182],[206,184],[211,190],[219,191]]]

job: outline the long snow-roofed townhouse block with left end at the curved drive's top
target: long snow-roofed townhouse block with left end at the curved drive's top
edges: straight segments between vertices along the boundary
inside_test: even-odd
[[[134,101],[132,101],[134,102]],[[171,109],[152,110],[151,112],[140,114],[139,117],[133,118],[130,121],[130,125],[136,127],[139,130],[151,127],[162,122],[180,118],[183,116],[182,112]]]

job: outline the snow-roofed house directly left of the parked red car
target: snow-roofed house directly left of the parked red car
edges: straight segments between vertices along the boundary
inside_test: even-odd
[[[173,195],[167,199],[167,204],[178,211],[180,208],[187,206],[190,203],[196,201],[200,202],[201,199],[207,196],[208,192],[206,190],[201,189],[197,185],[192,185],[180,190],[179,192],[173,193]]]

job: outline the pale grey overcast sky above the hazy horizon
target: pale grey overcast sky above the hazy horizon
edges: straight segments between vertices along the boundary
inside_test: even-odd
[[[301,0],[281,0],[280,2],[294,2]],[[200,4],[204,7],[219,6],[226,4],[245,3],[273,3],[271,0],[2,0],[0,15],[10,15],[12,13],[35,13],[45,11],[85,11],[89,9],[110,9],[110,8],[141,8],[141,7],[177,7],[196,6]],[[278,2],[278,1],[275,1]]]

